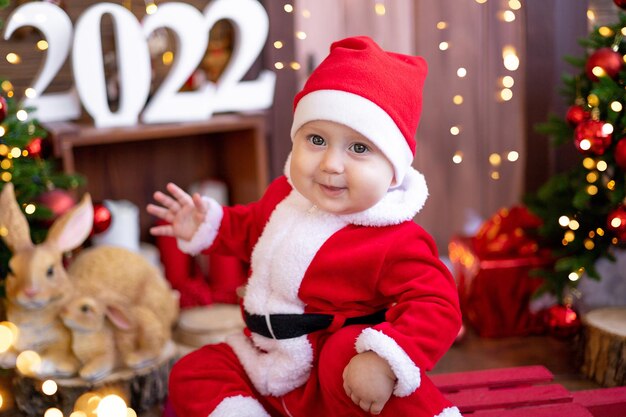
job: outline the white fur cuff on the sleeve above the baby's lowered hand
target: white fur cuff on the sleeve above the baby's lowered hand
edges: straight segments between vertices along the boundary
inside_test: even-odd
[[[393,393],[398,397],[411,395],[421,383],[420,370],[395,340],[383,332],[367,328],[356,339],[356,351],[373,351],[385,359],[398,378]],[[445,417],[445,414],[443,415]]]

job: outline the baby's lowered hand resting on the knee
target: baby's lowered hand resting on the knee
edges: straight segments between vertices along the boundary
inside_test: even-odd
[[[371,351],[353,357],[343,371],[346,394],[372,414],[380,414],[395,384],[396,376],[387,361]]]

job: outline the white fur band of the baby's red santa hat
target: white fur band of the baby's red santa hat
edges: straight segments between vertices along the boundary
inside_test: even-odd
[[[402,183],[413,162],[413,152],[391,116],[377,104],[346,91],[313,91],[296,106],[291,138],[302,125],[313,120],[341,123],[368,138],[393,165],[395,183]]]

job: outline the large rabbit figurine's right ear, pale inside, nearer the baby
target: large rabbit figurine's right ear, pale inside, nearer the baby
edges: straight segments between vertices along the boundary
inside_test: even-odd
[[[46,244],[56,246],[61,252],[79,247],[91,233],[93,206],[91,197],[85,194],[76,206],[59,217],[50,227]]]

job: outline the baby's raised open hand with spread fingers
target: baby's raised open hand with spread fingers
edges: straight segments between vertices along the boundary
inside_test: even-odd
[[[174,236],[178,239],[191,240],[204,221],[207,207],[198,193],[192,196],[174,183],[168,183],[167,191],[171,196],[157,191],[154,199],[161,204],[148,204],[148,213],[168,222],[168,225],[150,228],[154,236]]]

